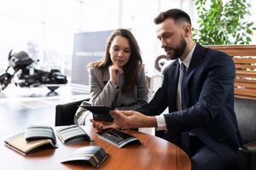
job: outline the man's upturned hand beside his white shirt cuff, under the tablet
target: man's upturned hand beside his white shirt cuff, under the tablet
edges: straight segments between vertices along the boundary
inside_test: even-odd
[[[138,111],[110,111],[109,113],[118,127],[157,127],[154,116],[145,116]]]

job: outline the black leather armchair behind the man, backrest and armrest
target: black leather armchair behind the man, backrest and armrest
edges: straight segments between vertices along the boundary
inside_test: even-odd
[[[239,169],[256,169],[256,105],[249,99],[236,99],[235,111],[242,146],[239,149]]]

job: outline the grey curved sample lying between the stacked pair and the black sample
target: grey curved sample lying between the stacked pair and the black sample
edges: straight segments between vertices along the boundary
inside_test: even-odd
[[[78,125],[71,125],[67,127],[61,127],[56,130],[57,136],[61,139],[62,143],[66,143],[71,139],[77,139],[83,137],[85,140],[90,141],[90,136],[84,131],[82,127]]]

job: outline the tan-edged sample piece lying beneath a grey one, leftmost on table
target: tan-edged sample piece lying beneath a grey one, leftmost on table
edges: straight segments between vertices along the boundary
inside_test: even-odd
[[[6,139],[5,144],[9,146],[9,148],[20,152],[22,155],[28,154],[30,151],[35,150],[43,145],[49,145],[52,148],[55,148],[55,144],[53,144],[50,139],[38,139],[33,141],[26,141],[24,138],[24,133],[18,133],[14,136]]]

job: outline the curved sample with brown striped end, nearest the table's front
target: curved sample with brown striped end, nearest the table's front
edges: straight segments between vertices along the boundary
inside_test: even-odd
[[[74,150],[61,163],[73,162],[99,167],[108,158],[108,153],[101,146],[85,146]]]

